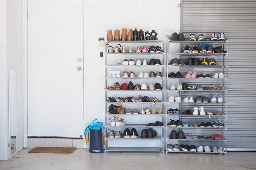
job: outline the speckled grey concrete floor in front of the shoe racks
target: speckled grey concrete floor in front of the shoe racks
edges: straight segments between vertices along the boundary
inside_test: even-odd
[[[22,149],[12,159],[0,161],[0,170],[243,170],[256,169],[256,152],[227,155],[184,153],[112,152],[90,154],[76,149],[72,154],[28,153]]]

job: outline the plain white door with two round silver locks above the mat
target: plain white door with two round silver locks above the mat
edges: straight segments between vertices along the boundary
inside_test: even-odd
[[[83,134],[83,3],[28,0],[28,136]]]

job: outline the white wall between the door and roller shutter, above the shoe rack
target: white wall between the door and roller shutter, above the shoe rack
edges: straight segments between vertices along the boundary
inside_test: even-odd
[[[104,52],[104,47],[98,46],[98,37],[105,37],[107,30],[122,28],[141,28],[144,32],[155,30],[158,40],[167,40],[165,31],[180,31],[181,8],[177,7],[180,0],[164,0],[161,2],[153,0],[131,0],[131,1],[85,1],[85,12],[87,12],[87,24],[85,25],[85,92],[87,97],[86,124],[95,118],[104,122],[104,60],[99,57]]]

